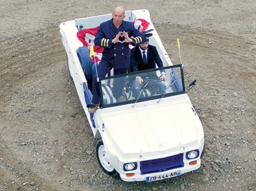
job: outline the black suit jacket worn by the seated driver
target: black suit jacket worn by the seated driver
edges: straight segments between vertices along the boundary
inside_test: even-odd
[[[163,62],[159,56],[159,53],[155,46],[149,45],[147,47],[147,65],[145,66],[143,63],[143,58],[141,55],[141,51],[139,50],[139,45],[131,49],[130,53],[130,63],[131,63],[131,72],[142,71],[163,67]],[[161,70],[164,72],[164,70]]]

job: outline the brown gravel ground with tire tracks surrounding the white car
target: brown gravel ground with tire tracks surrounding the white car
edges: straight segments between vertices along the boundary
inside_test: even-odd
[[[201,118],[201,167],[172,179],[126,183],[104,174],[66,68],[59,24],[147,9]],[[0,2],[0,190],[256,190],[255,0],[17,0]]]

